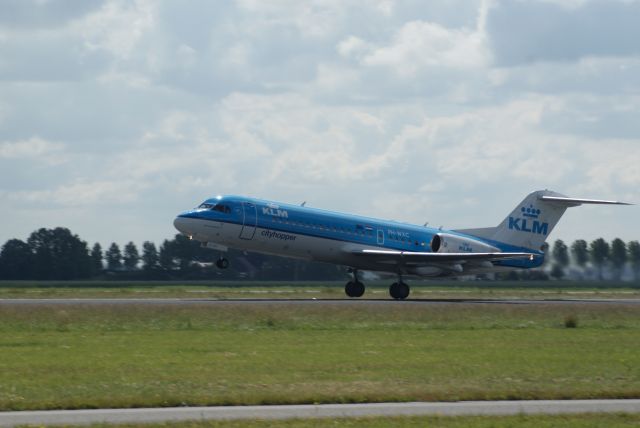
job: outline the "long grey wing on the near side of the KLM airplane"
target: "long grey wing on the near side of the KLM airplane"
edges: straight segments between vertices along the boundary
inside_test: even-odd
[[[529,259],[533,253],[427,253],[396,250],[356,250],[352,254],[377,262],[401,262],[404,264],[465,263],[471,261],[497,261]]]

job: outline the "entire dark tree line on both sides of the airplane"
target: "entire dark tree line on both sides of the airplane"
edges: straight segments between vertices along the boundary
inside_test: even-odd
[[[218,253],[184,235],[165,239],[157,247],[145,241],[142,248],[129,242],[120,248],[115,242],[103,249],[89,244],[69,229],[39,229],[26,241],[10,239],[0,251],[2,280],[74,279],[256,279],[256,280],[339,280],[345,278],[340,266],[277,256],[229,250],[229,269],[215,267]],[[512,272],[499,279],[561,279],[571,274],[582,278],[605,277],[619,280],[625,268],[640,279],[640,244],[598,238],[591,243],[576,240],[566,245],[557,240],[548,252],[545,268]],[[572,270],[571,270],[572,269]],[[548,274],[547,274],[548,272]]]

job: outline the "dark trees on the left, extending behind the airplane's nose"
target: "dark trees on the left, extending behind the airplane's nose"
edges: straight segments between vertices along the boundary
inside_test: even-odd
[[[39,229],[25,241],[11,239],[0,252],[0,280],[74,279],[259,279],[336,280],[344,269],[325,263],[230,250],[231,267],[215,267],[218,254],[183,235],[156,247],[146,241],[139,251],[133,242],[122,249],[112,243],[103,250],[66,228]]]

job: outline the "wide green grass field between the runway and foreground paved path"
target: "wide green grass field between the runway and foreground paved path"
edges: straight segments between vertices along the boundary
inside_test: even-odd
[[[637,306],[0,306],[1,410],[596,397],[640,397]]]

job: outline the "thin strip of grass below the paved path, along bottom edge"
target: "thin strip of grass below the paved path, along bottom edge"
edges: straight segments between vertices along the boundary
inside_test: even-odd
[[[294,419],[285,421],[198,421],[171,422],[153,425],[94,425],[94,427],[113,428],[315,428],[315,427],[420,427],[420,428],[601,428],[601,427],[637,427],[640,415],[625,414],[584,414],[584,415],[518,415],[518,416],[465,416],[465,417],[377,417],[377,418],[327,418]]]

